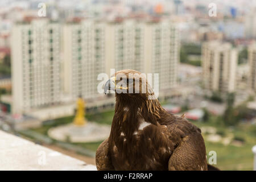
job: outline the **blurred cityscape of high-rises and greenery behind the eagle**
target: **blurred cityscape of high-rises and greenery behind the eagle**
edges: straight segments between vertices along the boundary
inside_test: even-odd
[[[73,121],[79,97],[88,121],[111,125],[98,76],[135,69],[159,73],[159,101],[200,127],[217,167],[251,170],[255,40],[255,0],[2,0],[0,129],[94,164],[102,139],[48,131]]]

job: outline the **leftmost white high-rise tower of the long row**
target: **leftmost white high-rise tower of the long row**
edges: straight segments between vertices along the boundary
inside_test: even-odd
[[[14,24],[11,32],[12,113],[61,101],[59,23],[47,19]]]

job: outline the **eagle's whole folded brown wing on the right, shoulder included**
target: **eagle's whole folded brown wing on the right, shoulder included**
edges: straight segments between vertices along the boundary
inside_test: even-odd
[[[206,150],[201,130],[182,117],[168,115],[162,118],[175,146],[168,162],[168,169],[207,170]]]

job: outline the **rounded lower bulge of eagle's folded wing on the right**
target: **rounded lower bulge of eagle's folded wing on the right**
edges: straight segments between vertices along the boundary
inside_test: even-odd
[[[207,170],[203,137],[198,133],[184,137],[172,153],[168,162],[168,169],[170,171]]]

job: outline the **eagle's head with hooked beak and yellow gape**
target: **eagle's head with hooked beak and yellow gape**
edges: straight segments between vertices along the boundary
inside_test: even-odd
[[[113,90],[117,100],[124,102],[146,101],[154,97],[154,92],[147,82],[146,74],[124,69],[118,71],[104,85],[105,94]]]

